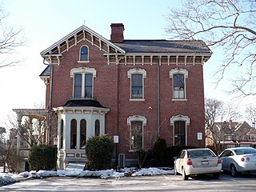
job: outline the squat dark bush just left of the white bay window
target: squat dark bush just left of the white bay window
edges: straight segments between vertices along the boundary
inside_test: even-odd
[[[33,146],[29,154],[30,170],[53,170],[56,167],[57,153],[54,146]]]

